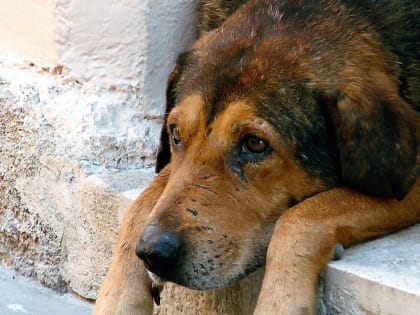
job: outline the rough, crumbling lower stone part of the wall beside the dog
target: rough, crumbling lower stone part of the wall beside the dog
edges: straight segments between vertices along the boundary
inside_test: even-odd
[[[0,64],[1,264],[95,298],[127,205],[120,193],[153,173],[160,120],[133,104]]]

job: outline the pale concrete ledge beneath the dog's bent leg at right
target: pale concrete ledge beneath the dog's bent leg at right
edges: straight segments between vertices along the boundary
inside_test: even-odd
[[[330,315],[420,314],[420,224],[352,247],[326,270]]]

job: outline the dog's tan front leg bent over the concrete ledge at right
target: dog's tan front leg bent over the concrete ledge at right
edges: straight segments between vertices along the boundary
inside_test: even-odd
[[[312,315],[319,272],[344,246],[420,222],[420,180],[402,200],[338,188],[289,209],[277,222],[254,314]]]

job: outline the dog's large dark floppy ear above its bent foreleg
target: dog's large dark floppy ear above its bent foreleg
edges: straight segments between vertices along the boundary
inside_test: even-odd
[[[419,173],[417,112],[384,75],[341,89],[331,111],[341,176],[361,192],[402,199]]]

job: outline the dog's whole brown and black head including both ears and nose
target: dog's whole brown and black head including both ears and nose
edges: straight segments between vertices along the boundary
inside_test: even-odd
[[[222,287],[264,265],[276,220],[308,196],[409,190],[419,120],[381,47],[319,31],[243,10],[178,58],[158,156],[167,184],[137,246],[151,272]]]

